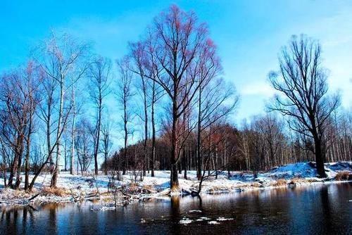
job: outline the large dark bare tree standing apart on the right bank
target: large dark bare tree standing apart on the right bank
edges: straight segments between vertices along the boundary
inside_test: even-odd
[[[290,118],[289,127],[313,139],[320,177],[326,177],[326,123],[339,106],[339,96],[327,96],[327,74],[321,65],[321,47],[313,39],[293,36],[279,57],[279,72],[270,72],[272,87],[279,91],[270,110]]]

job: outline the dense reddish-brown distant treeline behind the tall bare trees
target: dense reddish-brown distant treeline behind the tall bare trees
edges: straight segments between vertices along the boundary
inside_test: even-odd
[[[352,115],[341,110],[334,118],[329,122],[327,131],[329,138],[325,161],[352,161]],[[217,171],[270,170],[279,165],[315,161],[313,142],[292,132],[282,118],[271,113],[244,120],[240,128],[228,123],[216,124],[202,134],[201,155],[203,161],[209,161],[209,165],[203,165],[202,169],[215,171],[215,175]],[[187,171],[196,170],[197,167],[196,144],[196,132],[193,132],[182,148],[177,165],[186,179]],[[150,153],[150,140],[147,146]],[[161,134],[156,139],[156,170],[170,170],[170,148],[170,138],[167,134]],[[151,169],[151,165],[144,162],[143,149],[141,141],[127,147],[127,155],[130,156],[128,167],[133,174],[142,173],[144,165],[148,171]],[[101,168],[122,169],[123,151],[113,153]]]

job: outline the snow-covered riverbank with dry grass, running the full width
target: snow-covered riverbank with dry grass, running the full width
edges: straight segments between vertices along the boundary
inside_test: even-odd
[[[219,172],[206,179],[201,193],[230,193],[255,189],[273,189],[276,187],[298,186],[314,183],[340,182],[352,180],[352,163],[326,163],[327,178],[317,177],[314,163],[296,163],[274,167],[268,172]],[[156,171],[155,177],[147,174],[143,181],[136,182],[136,172],[130,172],[120,179],[111,175],[93,174],[71,175],[61,172],[56,189],[51,189],[50,174],[42,174],[34,190],[4,189],[4,179],[0,179],[0,206],[27,205],[30,203],[77,202],[100,200],[106,203],[126,205],[132,201],[149,200],[170,194],[170,171]],[[182,172],[183,173],[183,172]],[[179,174],[181,194],[189,194],[199,186],[195,171],[187,172],[187,179]],[[139,176],[137,177],[139,179]],[[21,185],[22,186],[22,185]]]

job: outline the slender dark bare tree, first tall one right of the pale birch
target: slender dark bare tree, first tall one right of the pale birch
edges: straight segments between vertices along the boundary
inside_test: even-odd
[[[96,127],[94,129],[94,172],[98,174],[98,154],[101,144],[101,117],[103,100],[110,93],[111,61],[98,57],[89,67],[89,94],[96,106]]]

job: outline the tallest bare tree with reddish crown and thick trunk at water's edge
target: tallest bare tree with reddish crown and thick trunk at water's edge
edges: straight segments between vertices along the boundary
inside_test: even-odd
[[[154,20],[150,32],[146,40],[153,42],[147,44],[156,45],[148,51],[154,58],[150,66],[163,70],[163,74],[149,76],[149,79],[163,88],[172,104],[170,186],[172,191],[180,191],[177,175],[181,141],[180,117],[194,101],[201,85],[197,81],[201,51],[210,46],[211,41],[208,40],[206,25],[198,23],[193,12],[186,13],[175,5],[170,7],[168,13],[161,13]]]

